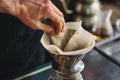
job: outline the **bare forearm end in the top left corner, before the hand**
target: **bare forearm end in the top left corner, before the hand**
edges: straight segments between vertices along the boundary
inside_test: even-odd
[[[14,10],[13,0],[0,0],[0,12],[11,14]]]

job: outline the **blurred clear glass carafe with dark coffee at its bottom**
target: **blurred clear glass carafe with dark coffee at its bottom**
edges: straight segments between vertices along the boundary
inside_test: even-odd
[[[110,21],[112,10],[101,11],[98,16],[99,20],[94,25],[92,33],[96,36],[96,39],[105,39],[113,35],[113,28]]]

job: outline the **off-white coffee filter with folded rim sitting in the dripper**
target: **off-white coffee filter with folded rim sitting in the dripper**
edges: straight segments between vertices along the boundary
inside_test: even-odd
[[[51,54],[80,55],[94,47],[95,39],[91,33],[82,28],[81,22],[68,22],[58,35],[50,36],[44,33],[41,43]]]

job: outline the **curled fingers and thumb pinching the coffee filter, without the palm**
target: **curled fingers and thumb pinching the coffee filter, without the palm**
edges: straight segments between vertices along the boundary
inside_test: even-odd
[[[50,19],[51,25],[46,25],[38,21],[37,27],[47,33],[59,34],[64,28],[64,17],[62,12],[50,1],[44,0],[44,5],[40,6],[39,19]],[[35,23],[36,24],[36,23]]]

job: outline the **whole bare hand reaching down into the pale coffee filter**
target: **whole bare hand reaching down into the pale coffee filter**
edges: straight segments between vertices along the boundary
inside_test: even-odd
[[[59,34],[64,28],[63,14],[50,0],[13,0],[15,9],[11,14],[32,29],[40,29],[50,34]],[[50,25],[41,21],[50,19]]]

